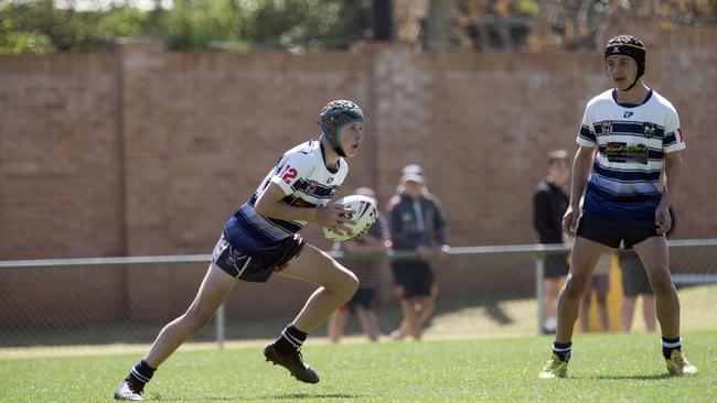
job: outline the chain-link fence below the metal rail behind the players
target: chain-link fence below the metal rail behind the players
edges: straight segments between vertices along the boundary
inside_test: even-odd
[[[717,240],[673,240],[670,246],[683,331],[717,328],[713,309],[717,305]],[[439,296],[426,337],[537,334],[542,260],[561,250],[546,246],[453,248],[450,257],[435,266]],[[0,262],[0,351],[151,342],[192,302],[208,259],[182,255]],[[400,322],[400,311],[393,299],[389,265],[381,266],[377,313],[381,331],[386,335]],[[619,268],[610,275],[610,293],[619,299]],[[272,338],[313,290],[311,284],[278,275],[268,284],[237,282],[215,323],[192,341]],[[611,318],[614,320],[619,317]],[[346,331],[361,330],[351,324]],[[325,336],[325,326],[314,335]]]

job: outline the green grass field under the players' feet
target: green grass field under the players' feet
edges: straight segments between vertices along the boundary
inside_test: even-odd
[[[156,373],[148,401],[714,402],[717,331],[684,335],[699,373],[666,374],[655,334],[577,335],[568,379],[538,380],[552,338],[381,341],[304,348],[319,384],[264,361],[259,344],[180,349]],[[141,353],[0,361],[1,402],[103,402]]]

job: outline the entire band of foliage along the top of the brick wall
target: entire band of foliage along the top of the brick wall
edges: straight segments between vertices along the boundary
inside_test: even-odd
[[[0,0],[0,53],[93,51],[119,36],[164,40],[178,51],[345,48],[372,35],[386,0],[174,0],[93,10],[53,0]],[[75,4],[66,0],[65,3]],[[611,19],[663,29],[717,23],[717,0],[392,0],[394,37],[418,47],[591,48]]]

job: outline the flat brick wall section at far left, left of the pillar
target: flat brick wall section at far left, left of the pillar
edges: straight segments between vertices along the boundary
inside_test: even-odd
[[[122,247],[116,56],[0,56],[0,259]]]

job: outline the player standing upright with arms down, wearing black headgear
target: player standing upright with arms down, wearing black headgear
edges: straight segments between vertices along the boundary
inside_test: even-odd
[[[679,118],[667,99],[644,84],[645,46],[640,40],[612,37],[604,61],[613,88],[588,102],[578,133],[570,204],[563,217],[563,230],[576,236],[570,272],[558,299],[553,355],[538,377],[567,377],[572,328],[590,275],[606,249],[621,242],[640,257],[654,288],[667,371],[696,373],[681,351],[679,301],[664,236],[672,225],[668,208],[685,149]],[[666,186],[660,179],[663,168]]]

